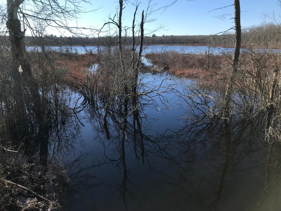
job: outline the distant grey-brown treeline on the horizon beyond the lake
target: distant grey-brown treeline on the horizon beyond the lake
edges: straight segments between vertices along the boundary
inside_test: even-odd
[[[251,28],[244,29],[242,32],[242,46],[247,45],[270,45],[270,47],[279,48],[281,40],[281,30],[275,24],[261,24]],[[131,45],[132,38],[127,36],[122,38],[124,45]],[[3,40],[3,37],[2,37]],[[43,38],[37,39],[31,36],[26,36],[25,41],[29,45],[39,45],[39,41],[45,45],[118,45],[117,36],[104,37],[57,37],[55,35],[45,35]],[[136,42],[139,40],[136,38]],[[219,35],[163,35],[163,36],[146,36],[144,37],[145,45],[216,45],[216,46],[234,46],[234,36],[230,33]]]

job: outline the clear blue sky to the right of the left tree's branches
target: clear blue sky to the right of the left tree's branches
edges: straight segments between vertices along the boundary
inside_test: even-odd
[[[141,4],[138,10],[138,20],[140,19],[140,13],[142,9],[146,9],[148,0],[140,0]],[[171,4],[173,0],[153,0],[154,9],[160,8],[165,5]],[[78,20],[78,24],[84,26],[101,27],[105,21],[108,20],[108,16],[111,17],[116,13],[116,6],[118,1],[116,0],[104,0],[104,1],[90,1],[92,5],[83,5],[88,10],[100,8],[95,12],[85,13]],[[145,28],[150,30],[157,28],[159,24],[165,25],[165,30],[159,30],[155,32],[156,35],[199,35],[199,34],[214,34],[220,31],[231,28],[234,23],[233,15],[226,16],[224,20],[216,18],[221,14],[233,14],[233,6],[224,9],[209,12],[215,8],[224,7],[233,4],[233,0],[178,0],[174,5],[168,7],[162,14],[163,10],[156,11],[151,18],[157,20],[153,23],[147,23]],[[241,0],[241,26],[249,27],[252,25],[258,25],[263,20],[263,14],[269,14],[270,16],[275,14],[275,18],[279,21],[281,14],[281,8],[277,4],[277,0]],[[127,4],[123,14],[123,26],[132,25],[132,17],[134,12],[134,6]],[[270,18],[266,18],[267,22],[272,22]]]

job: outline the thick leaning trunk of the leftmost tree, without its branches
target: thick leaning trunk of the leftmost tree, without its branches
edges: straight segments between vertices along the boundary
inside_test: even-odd
[[[21,31],[21,24],[18,19],[18,7],[22,3],[23,0],[7,0],[8,21],[6,22],[6,25],[9,30],[9,38],[12,43],[13,54],[18,59],[23,70],[23,76],[30,90],[34,112],[39,125],[38,141],[40,142],[40,161],[43,165],[47,165],[49,121],[42,104],[39,87],[33,77],[25,51],[23,41],[24,32]]]

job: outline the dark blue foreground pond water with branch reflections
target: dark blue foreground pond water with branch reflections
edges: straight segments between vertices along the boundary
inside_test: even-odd
[[[279,206],[280,144],[264,141],[266,112],[237,112],[226,146],[219,93],[165,73],[139,80],[135,100],[67,88],[54,98],[49,154],[61,154],[72,180],[64,210]]]

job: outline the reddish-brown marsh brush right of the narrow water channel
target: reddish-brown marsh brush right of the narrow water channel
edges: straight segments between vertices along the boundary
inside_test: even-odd
[[[150,53],[146,54],[145,57],[155,65],[155,67],[151,68],[152,73],[167,71],[168,74],[177,77],[196,79],[198,85],[203,87],[225,86],[232,72],[231,54],[208,56],[204,54],[166,52]],[[254,81],[257,75],[263,80],[269,80],[273,75],[275,65],[279,64],[280,61],[280,55],[274,52],[266,54],[256,52],[255,55],[250,51],[241,52],[239,71],[236,76],[239,78],[237,85],[245,85],[245,77]],[[158,69],[158,71],[154,69]],[[251,89],[255,89],[255,87]]]

